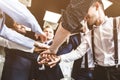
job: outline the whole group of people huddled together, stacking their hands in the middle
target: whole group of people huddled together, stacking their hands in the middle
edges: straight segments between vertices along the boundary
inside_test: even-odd
[[[0,0],[0,10],[0,45],[7,47],[1,80],[60,80],[61,61],[74,61],[75,80],[120,80],[120,17],[107,17],[102,0],[70,0],[55,36],[51,30],[48,35],[49,28],[43,32],[18,0]],[[41,42],[9,29],[4,13],[31,28]]]

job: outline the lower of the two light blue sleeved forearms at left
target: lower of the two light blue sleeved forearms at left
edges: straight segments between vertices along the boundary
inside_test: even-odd
[[[8,27],[6,27],[6,25],[2,27],[2,30],[0,31],[0,36],[30,49],[33,48],[35,44],[34,40],[9,29]]]

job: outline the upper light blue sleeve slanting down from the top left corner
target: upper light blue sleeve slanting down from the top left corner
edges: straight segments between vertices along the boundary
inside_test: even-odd
[[[31,28],[33,32],[43,33],[36,18],[18,0],[0,0],[0,9],[16,22]]]

